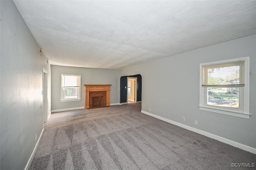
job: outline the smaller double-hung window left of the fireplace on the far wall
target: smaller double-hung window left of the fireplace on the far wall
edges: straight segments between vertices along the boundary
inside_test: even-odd
[[[81,75],[61,74],[61,102],[81,100]]]

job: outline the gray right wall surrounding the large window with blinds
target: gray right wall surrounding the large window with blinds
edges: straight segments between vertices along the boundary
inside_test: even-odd
[[[256,148],[255,53],[256,35],[252,35],[131,66],[120,70],[120,76],[142,75],[142,110]],[[250,119],[199,110],[199,64],[246,56],[250,56]]]

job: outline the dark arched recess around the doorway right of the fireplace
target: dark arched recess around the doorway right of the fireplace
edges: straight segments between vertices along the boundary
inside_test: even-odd
[[[137,78],[137,102],[141,102],[142,77],[140,74],[136,74],[133,76],[122,76],[120,78],[120,103],[127,102],[127,77]]]

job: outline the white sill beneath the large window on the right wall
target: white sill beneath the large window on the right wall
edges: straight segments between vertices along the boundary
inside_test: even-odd
[[[224,109],[218,109],[218,108],[213,108],[213,107],[209,107],[209,106],[198,106],[198,107],[200,110],[215,112],[215,113],[220,113],[220,114],[226,114],[226,115],[236,116],[236,117],[240,117],[240,118],[249,119],[249,116],[251,116],[251,114],[239,112],[236,110],[224,110]]]

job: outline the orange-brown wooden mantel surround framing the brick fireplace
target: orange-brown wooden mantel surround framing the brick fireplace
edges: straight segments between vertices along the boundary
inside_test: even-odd
[[[106,106],[110,106],[110,86],[112,84],[84,84],[85,104],[84,108],[89,108],[89,93],[106,91]]]

